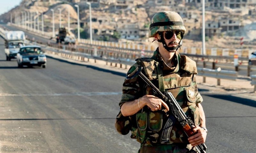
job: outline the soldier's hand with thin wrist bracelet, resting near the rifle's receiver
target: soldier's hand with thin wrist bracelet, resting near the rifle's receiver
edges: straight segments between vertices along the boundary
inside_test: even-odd
[[[156,96],[153,95],[145,95],[141,98],[141,100],[145,101],[146,105],[152,110],[161,110],[162,105],[169,111],[169,107],[167,104],[160,98],[157,98]]]

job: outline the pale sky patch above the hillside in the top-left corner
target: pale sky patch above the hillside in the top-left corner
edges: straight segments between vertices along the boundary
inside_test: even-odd
[[[0,15],[19,5],[22,0],[0,0]]]

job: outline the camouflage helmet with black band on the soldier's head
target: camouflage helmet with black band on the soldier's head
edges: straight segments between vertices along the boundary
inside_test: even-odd
[[[161,11],[156,13],[151,19],[148,37],[154,37],[158,32],[173,30],[180,30],[185,34],[186,28],[182,18],[177,12]]]

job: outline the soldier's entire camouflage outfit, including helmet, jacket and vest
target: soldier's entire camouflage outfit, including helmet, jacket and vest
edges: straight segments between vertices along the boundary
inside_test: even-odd
[[[159,12],[151,20],[149,37],[154,37],[156,33],[175,30],[182,31],[183,34],[186,32],[180,15],[171,11]],[[163,37],[161,39],[163,40]],[[159,42],[163,43],[162,40]],[[151,58],[136,59],[136,63],[129,69],[127,75],[131,74],[138,66],[142,66],[142,73],[160,91],[171,92],[185,114],[194,121],[195,125],[199,125],[199,108],[196,104],[202,102],[203,99],[196,85],[196,62],[176,51],[172,58],[172,65],[172,67],[169,67],[164,62],[157,48]],[[120,107],[125,102],[138,99],[144,95],[154,95],[153,90],[138,76],[134,79],[125,80],[122,90]],[[187,136],[176,120],[173,120],[170,127],[169,142],[162,143],[163,127],[169,117],[172,117],[172,114],[169,114],[163,107],[161,110],[151,111],[148,106],[145,106],[139,112],[130,116],[129,121],[125,121],[127,124],[122,124],[122,127],[118,128],[125,126],[130,128],[131,138],[136,139],[141,144],[139,153],[194,153],[195,151],[189,144]],[[128,124],[129,122],[131,124]],[[127,134],[127,130],[120,133]]]

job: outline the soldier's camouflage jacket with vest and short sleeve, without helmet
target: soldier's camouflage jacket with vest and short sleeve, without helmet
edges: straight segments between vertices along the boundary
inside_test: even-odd
[[[180,104],[182,110],[189,115],[196,125],[200,124],[199,109],[197,103],[203,101],[198,92],[195,75],[197,74],[196,63],[185,55],[178,52],[174,55],[173,67],[168,67],[162,60],[158,49],[151,58],[136,59],[136,63],[129,69],[127,75],[132,73],[139,65],[143,67],[144,75],[160,90],[172,92]],[[161,69],[161,75],[159,75]],[[162,77],[163,85],[158,82]],[[119,103],[138,99],[146,94],[154,95],[152,89],[139,77],[132,81],[124,81],[123,94]],[[160,143],[161,131],[168,117],[166,109],[152,112],[145,106],[142,110],[132,115],[132,138],[145,145],[158,145]],[[188,143],[180,125],[175,122],[172,125],[170,141],[172,143]]]

